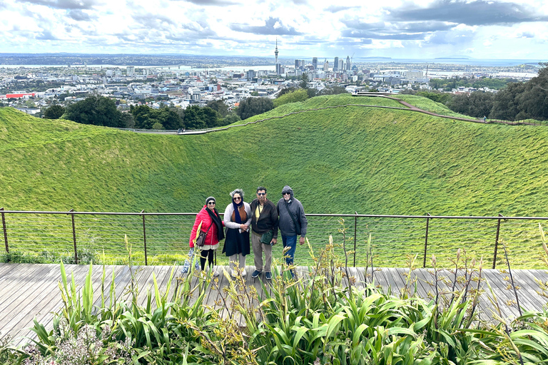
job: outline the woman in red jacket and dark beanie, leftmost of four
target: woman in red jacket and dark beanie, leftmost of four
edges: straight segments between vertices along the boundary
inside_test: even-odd
[[[219,212],[215,209],[214,197],[208,197],[202,210],[196,215],[189,242],[191,247],[194,247],[194,242],[198,236],[196,231],[198,231],[200,223],[202,223],[201,230],[204,233],[207,232],[204,245],[199,247],[201,250],[200,264],[202,270],[205,269],[205,260],[207,260],[209,269],[213,269],[213,255],[219,246],[219,241],[225,238],[223,230],[224,222],[220,219]],[[215,271],[213,272],[213,276],[217,277],[219,273]]]

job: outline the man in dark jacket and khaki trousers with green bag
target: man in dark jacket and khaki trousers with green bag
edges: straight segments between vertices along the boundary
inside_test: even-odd
[[[255,271],[251,277],[258,277],[263,269],[265,279],[272,279],[270,265],[272,264],[272,246],[276,244],[278,238],[278,211],[273,202],[266,198],[266,187],[257,188],[257,198],[250,204],[251,206],[251,246],[253,247],[253,256],[255,259]],[[270,242],[260,242],[263,234],[273,232]],[[265,262],[263,267],[263,251],[265,252]]]

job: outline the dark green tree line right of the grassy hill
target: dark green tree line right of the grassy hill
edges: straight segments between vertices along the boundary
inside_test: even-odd
[[[502,120],[548,120],[548,63],[541,63],[537,77],[522,83],[509,82],[498,93],[469,94],[407,92],[443,103],[447,108],[474,118]],[[406,93],[406,92],[404,92]]]

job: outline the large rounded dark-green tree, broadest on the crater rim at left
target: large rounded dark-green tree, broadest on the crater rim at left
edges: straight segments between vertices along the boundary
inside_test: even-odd
[[[113,100],[104,96],[90,96],[66,108],[65,119],[76,123],[124,127],[121,112]]]

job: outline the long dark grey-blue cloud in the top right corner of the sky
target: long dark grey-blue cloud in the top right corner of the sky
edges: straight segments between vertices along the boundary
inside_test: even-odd
[[[437,0],[426,7],[412,4],[387,12],[390,21],[448,21],[469,26],[548,21],[548,16],[531,6],[486,0]]]

